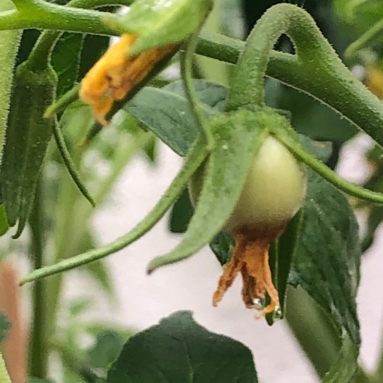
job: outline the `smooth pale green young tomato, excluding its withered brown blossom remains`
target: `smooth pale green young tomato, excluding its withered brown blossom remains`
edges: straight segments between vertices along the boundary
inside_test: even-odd
[[[204,180],[204,164],[189,184],[189,194],[198,203]],[[268,136],[250,167],[240,199],[224,230],[241,226],[280,226],[289,222],[306,195],[305,166],[272,136]]]

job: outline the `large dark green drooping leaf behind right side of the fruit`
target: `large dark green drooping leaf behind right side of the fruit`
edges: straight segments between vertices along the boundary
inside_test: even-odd
[[[300,240],[289,283],[300,285],[328,313],[343,341],[337,367],[325,382],[348,382],[357,368],[360,327],[356,293],[361,249],[358,226],[346,197],[313,171]]]

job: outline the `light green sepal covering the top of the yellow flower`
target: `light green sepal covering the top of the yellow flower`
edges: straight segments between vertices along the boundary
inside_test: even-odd
[[[192,34],[212,8],[212,0],[136,0],[128,13],[105,21],[138,36],[130,53],[174,44]]]

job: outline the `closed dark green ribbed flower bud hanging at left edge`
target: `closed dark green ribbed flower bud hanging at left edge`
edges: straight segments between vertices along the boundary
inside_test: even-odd
[[[18,220],[17,238],[32,208],[36,184],[55,118],[44,118],[54,101],[57,76],[50,65],[34,70],[28,61],[16,69],[2,163],[2,191],[8,223]]]

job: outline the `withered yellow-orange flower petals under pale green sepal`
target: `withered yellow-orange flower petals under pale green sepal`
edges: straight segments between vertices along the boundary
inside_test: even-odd
[[[108,124],[105,116],[113,103],[123,100],[147,77],[155,64],[175,48],[175,45],[165,45],[137,56],[129,56],[127,51],[136,39],[137,36],[134,35],[123,35],[117,43],[109,47],[81,82],[80,98],[92,106],[94,118],[102,125]]]

